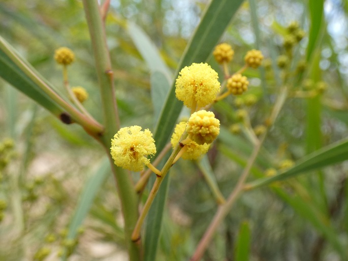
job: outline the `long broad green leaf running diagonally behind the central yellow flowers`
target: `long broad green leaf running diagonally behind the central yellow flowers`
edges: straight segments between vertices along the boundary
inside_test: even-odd
[[[189,66],[193,62],[204,62],[209,58],[212,49],[223,35],[242,2],[243,0],[211,1],[210,5],[205,10],[201,23],[197,27],[194,36],[186,47],[175,77],[177,77],[179,71],[183,67]],[[178,101],[175,97],[175,81],[173,80],[165,105],[161,111],[160,119],[157,121],[155,128],[154,140],[156,141],[157,151],[161,151],[165,147],[181,109],[182,102]],[[166,194],[167,186],[166,184],[162,184],[156,199],[163,199],[166,197]],[[145,232],[145,242],[148,240],[153,242],[153,244],[145,247],[145,260],[152,261],[156,259],[163,211],[157,211],[155,208],[151,207],[148,216],[151,217],[151,222],[157,224],[155,229],[147,229]],[[148,221],[146,221],[145,226],[147,225]]]

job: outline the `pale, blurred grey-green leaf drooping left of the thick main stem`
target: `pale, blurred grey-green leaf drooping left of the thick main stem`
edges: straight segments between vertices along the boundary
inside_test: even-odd
[[[86,218],[93,204],[94,198],[96,198],[98,191],[110,173],[110,162],[109,159],[105,157],[98,170],[87,180],[82,189],[79,202],[70,222],[68,239],[75,239],[79,227],[82,225],[83,220]],[[66,257],[63,256],[62,260],[66,260]]]

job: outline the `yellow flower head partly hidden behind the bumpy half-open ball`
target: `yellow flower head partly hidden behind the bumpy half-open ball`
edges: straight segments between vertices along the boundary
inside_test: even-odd
[[[178,144],[181,138],[181,135],[185,131],[185,128],[186,128],[186,122],[184,121],[176,124],[174,133],[172,135],[172,138],[170,139],[170,142],[173,148]],[[185,144],[183,149],[185,150],[185,152],[181,156],[183,159],[197,159],[202,154],[208,151],[209,145],[208,144],[199,145],[194,141],[190,141]]]

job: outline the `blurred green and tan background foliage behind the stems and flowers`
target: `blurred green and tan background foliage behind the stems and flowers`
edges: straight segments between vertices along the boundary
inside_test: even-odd
[[[126,23],[132,21],[146,32],[174,72],[206,5],[203,0],[111,1],[106,31],[122,126],[154,128],[149,68]],[[252,178],[265,175],[268,168],[281,168],[283,160],[296,161],[346,137],[348,2],[327,0],[324,7],[319,44],[306,63],[302,60],[310,28],[307,1],[246,1],[222,39],[235,50],[232,72],[243,66],[243,57],[252,48],[260,48],[268,62],[260,70],[245,72],[251,84],[241,99],[245,102],[252,93],[256,103],[242,109],[253,127],[265,122],[287,73],[277,67],[277,57],[286,54],[283,38],[292,21],[300,24],[306,36],[294,49],[289,67],[293,75],[287,84],[294,93],[321,82],[327,86],[313,99],[287,100],[252,169]],[[101,121],[97,76],[80,1],[3,0],[0,35],[62,92],[61,68],[53,53],[60,46],[71,48],[77,59],[69,68],[70,84],[87,89],[90,98],[84,105]],[[223,80],[222,68],[212,57],[208,63]],[[310,101],[315,99],[318,103]],[[252,148],[247,136],[231,128],[240,125],[239,105],[230,96],[213,108],[222,133],[208,157],[225,197]],[[71,260],[125,260],[122,218],[108,170],[81,229],[74,240],[67,240],[83,188],[101,170],[101,147],[81,127],[63,125],[4,81],[0,81],[0,127],[0,260],[43,260],[45,256],[57,260],[62,251],[71,254]],[[347,171],[348,164],[343,162],[244,193],[220,226],[204,260],[241,258],[236,254],[239,242],[249,246],[249,260],[343,260],[347,253],[339,249],[346,252],[348,245]],[[187,260],[216,208],[197,164],[180,160],[171,171],[157,259]]]

